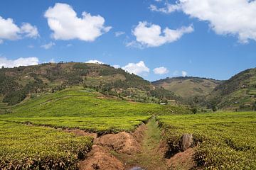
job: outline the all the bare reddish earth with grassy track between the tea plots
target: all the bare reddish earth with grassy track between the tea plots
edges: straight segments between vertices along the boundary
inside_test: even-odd
[[[193,148],[165,159],[166,142],[161,141],[161,130],[155,120],[140,125],[134,132],[119,132],[97,137],[82,130],[65,130],[75,135],[90,135],[95,138],[91,151],[79,163],[80,170],[124,170],[136,166],[147,170],[193,169]]]

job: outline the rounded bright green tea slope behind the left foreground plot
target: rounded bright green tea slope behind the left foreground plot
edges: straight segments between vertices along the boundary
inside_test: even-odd
[[[12,108],[11,114],[1,115],[0,120],[104,133],[131,131],[153,114],[176,112],[187,110],[106,98],[92,89],[77,87],[31,98]]]

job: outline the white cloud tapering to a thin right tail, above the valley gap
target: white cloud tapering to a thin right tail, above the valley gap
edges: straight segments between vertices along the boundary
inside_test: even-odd
[[[146,47],[159,47],[165,43],[174,42],[180,39],[183,34],[191,32],[193,32],[193,26],[181,27],[177,30],[171,30],[169,28],[161,30],[160,26],[147,23],[146,21],[139,22],[138,26],[132,30],[137,42]],[[132,45],[134,45],[134,42]],[[127,46],[131,45],[127,44]]]

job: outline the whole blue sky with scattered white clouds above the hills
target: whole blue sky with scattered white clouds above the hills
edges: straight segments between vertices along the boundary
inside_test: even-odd
[[[0,67],[97,62],[144,79],[229,79],[256,64],[256,1],[0,2]]]

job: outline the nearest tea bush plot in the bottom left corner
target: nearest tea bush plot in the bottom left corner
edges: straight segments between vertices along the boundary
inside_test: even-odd
[[[78,169],[91,137],[0,121],[0,169]]]

